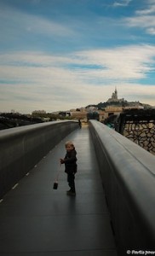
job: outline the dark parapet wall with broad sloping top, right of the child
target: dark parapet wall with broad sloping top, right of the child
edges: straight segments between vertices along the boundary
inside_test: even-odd
[[[155,249],[155,158],[97,121],[90,131],[111,214],[118,255]]]

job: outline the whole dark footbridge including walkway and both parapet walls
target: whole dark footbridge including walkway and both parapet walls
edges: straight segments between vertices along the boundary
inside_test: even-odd
[[[68,140],[76,196],[59,163]],[[95,120],[0,131],[0,256],[155,255],[154,166],[154,155]]]

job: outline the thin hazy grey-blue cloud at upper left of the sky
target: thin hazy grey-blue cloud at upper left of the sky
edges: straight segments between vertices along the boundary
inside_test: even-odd
[[[30,15],[14,8],[6,8],[0,3],[1,40],[29,38],[35,34],[48,38],[72,37],[74,31],[52,19]]]

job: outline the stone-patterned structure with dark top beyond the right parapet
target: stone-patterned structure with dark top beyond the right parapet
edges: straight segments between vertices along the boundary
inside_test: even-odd
[[[115,122],[115,129],[141,148],[155,154],[155,109],[120,113]]]

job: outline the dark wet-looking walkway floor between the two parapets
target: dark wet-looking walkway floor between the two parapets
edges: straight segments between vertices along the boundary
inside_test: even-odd
[[[76,196],[61,166],[64,143],[73,140],[78,152]],[[2,256],[116,256],[110,218],[89,129],[73,131],[35,166],[0,203]]]

